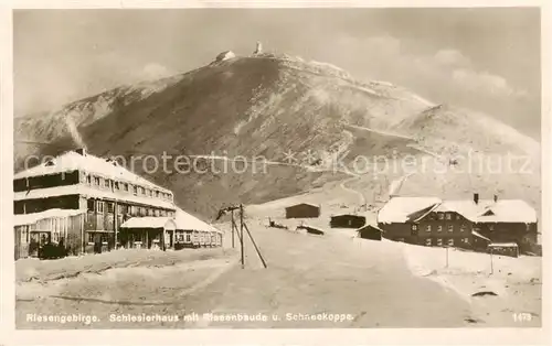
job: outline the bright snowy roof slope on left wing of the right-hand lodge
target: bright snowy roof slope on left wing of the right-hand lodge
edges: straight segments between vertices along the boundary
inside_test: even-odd
[[[437,197],[393,197],[378,213],[378,223],[405,223],[413,214],[438,203]]]

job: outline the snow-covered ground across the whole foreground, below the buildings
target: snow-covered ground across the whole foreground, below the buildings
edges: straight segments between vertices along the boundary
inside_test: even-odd
[[[230,248],[227,224],[219,225],[225,230],[221,249],[120,250],[17,261],[18,328],[485,327],[514,326],[512,314],[524,312],[533,320],[516,326],[540,324],[539,258],[497,257],[496,273],[489,277],[486,255],[452,251],[444,268],[444,249],[352,238],[340,229],[308,235],[267,228],[264,219],[246,220],[266,269],[247,236],[241,268],[238,240]],[[534,266],[535,279],[529,266]],[[508,295],[499,290],[505,282]],[[499,295],[470,296],[484,290]],[[279,320],[184,320],[193,313]],[[60,325],[29,321],[29,314],[88,314],[99,320]],[[153,314],[180,320],[132,323],[110,317]],[[318,314],[348,317],[304,318]]]

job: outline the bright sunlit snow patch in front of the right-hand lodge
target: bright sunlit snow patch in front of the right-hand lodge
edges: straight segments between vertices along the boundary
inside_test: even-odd
[[[392,242],[403,250],[411,271],[456,292],[473,309],[475,321],[501,326],[542,323],[542,258],[519,258]],[[448,257],[448,259],[447,259]],[[497,295],[474,296],[480,292]],[[519,315],[530,315],[518,321]]]

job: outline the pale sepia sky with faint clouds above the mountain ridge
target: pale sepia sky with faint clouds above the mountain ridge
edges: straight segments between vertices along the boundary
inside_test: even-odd
[[[540,133],[540,13],[502,9],[15,11],[15,113],[187,72],[232,50],[335,64]]]

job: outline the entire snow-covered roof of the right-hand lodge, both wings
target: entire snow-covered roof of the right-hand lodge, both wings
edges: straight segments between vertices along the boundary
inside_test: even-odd
[[[455,212],[474,223],[537,223],[537,212],[521,199],[479,199],[476,204],[471,199],[442,201],[436,197],[393,197],[378,214],[378,221],[417,221],[432,212]]]

